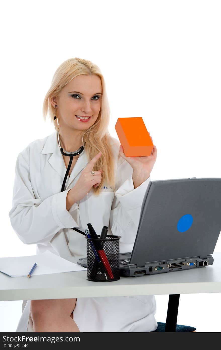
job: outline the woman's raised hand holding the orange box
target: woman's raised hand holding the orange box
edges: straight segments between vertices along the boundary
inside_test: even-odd
[[[151,138],[151,141],[153,142],[153,139],[151,136],[150,138]],[[152,169],[156,161],[157,149],[156,149],[156,146],[154,145],[152,152],[149,156],[126,157],[124,154],[124,148],[122,145],[120,145],[119,154],[133,168],[133,178],[134,179],[136,178],[137,182],[141,182],[141,181],[143,182],[148,179],[148,177],[150,176],[150,173],[152,172]]]

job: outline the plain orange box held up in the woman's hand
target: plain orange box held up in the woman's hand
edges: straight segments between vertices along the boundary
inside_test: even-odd
[[[115,130],[126,157],[151,154],[154,145],[142,117],[118,118]]]

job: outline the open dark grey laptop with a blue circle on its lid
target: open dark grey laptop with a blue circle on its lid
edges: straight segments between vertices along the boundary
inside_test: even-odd
[[[120,275],[212,265],[220,231],[221,178],[150,180],[133,250],[120,253]],[[87,258],[78,264],[87,267]]]

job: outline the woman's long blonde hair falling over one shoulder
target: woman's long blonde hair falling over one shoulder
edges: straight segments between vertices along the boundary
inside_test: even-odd
[[[84,132],[82,136],[82,145],[84,145],[89,161],[96,154],[102,152],[101,157],[96,161],[93,168],[94,171],[103,169],[100,185],[97,188],[92,187],[94,194],[98,196],[104,186],[104,182],[106,184],[106,181],[115,191],[115,166],[111,148],[113,142],[108,131],[110,107],[106,94],[104,77],[98,66],[91,61],[77,57],[67,59],[63,62],[54,73],[50,89],[45,95],[43,102],[43,118],[46,121],[46,117],[49,114],[49,118],[54,124],[54,128],[58,130],[57,120],[54,120],[54,107],[51,104],[51,98],[54,96],[58,97],[62,87],[68,84],[76,76],[93,74],[101,79],[101,109],[95,123]]]

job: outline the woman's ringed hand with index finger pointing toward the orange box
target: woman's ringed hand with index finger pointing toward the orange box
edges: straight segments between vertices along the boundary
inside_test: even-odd
[[[101,169],[94,171],[94,175],[91,174],[91,171],[93,170],[96,161],[100,158],[101,155],[102,153],[100,152],[91,159],[86,168],[82,170],[81,175],[74,187],[69,191],[69,193],[71,192],[73,195],[75,202],[80,201],[82,198],[84,198],[93,186],[96,188],[100,185],[103,170]]]

